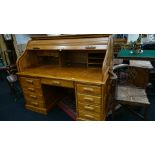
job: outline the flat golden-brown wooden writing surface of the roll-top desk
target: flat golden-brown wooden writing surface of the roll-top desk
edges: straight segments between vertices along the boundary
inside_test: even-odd
[[[101,68],[59,67],[54,65],[46,65],[29,68],[18,74],[33,77],[84,81],[96,84],[102,83]]]

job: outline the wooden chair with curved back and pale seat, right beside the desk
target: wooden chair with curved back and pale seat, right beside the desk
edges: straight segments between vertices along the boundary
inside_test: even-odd
[[[136,87],[129,83],[127,64],[116,65],[111,72],[112,79],[112,117],[115,118],[115,110],[118,104],[128,109],[133,114],[147,120],[150,102],[144,88]],[[135,107],[143,107],[144,113],[136,111]]]

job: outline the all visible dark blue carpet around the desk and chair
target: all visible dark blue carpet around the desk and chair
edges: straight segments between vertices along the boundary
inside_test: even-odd
[[[148,93],[152,90],[147,90]],[[155,92],[155,91],[154,91]],[[149,96],[151,106],[149,109],[149,120],[155,120],[155,97]],[[138,109],[141,110],[141,109]],[[111,115],[107,118],[111,121]],[[139,121],[137,116],[134,116],[124,108],[120,108],[115,117],[116,121]],[[63,112],[60,108],[53,108],[48,115],[42,115],[24,107],[24,98],[21,95],[18,101],[10,94],[9,86],[4,80],[0,80],[0,121],[72,121],[72,119]]]

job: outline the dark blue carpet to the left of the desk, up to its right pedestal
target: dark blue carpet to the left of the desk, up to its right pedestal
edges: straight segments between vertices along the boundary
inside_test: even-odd
[[[0,80],[0,121],[71,121],[58,107],[53,108],[49,114],[42,115],[25,109],[23,96],[15,101],[10,94],[7,82]]]

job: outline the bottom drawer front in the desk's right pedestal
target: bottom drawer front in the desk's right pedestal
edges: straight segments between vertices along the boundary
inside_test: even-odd
[[[88,111],[79,111],[78,112],[78,120],[88,120],[88,121],[100,121],[101,119],[100,114],[88,112]]]

